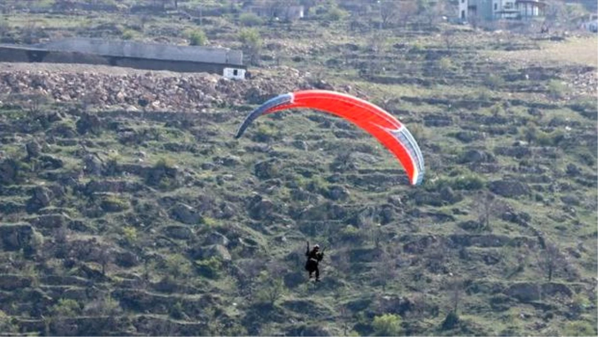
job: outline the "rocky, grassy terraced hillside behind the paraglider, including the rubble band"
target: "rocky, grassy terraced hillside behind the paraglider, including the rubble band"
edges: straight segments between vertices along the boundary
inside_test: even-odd
[[[0,330],[595,333],[598,105],[568,77],[595,69],[511,65],[482,51],[537,42],[463,29],[449,48],[454,27],[438,27],[373,45],[376,32],[341,23],[264,24],[246,81],[1,65]],[[233,138],[257,104],[298,88],[401,118],[425,183],[408,186],[385,148],[321,112]],[[318,284],[307,240],[328,247]]]

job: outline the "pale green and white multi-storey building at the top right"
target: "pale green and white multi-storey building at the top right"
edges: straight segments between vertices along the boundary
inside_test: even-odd
[[[542,0],[459,0],[459,19],[524,20],[544,16],[546,6]]]

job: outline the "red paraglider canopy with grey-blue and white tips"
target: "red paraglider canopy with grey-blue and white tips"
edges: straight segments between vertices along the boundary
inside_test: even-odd
[[[422,151],[407,127],[373,103],[349,94],[328,90],[302,90],[276,96],[251,112],[240,125],[236,138],[264,114],[292,108],[309,108],[337,115],[358,125],[392,152],[404,167],[411,185],[423,181]]]

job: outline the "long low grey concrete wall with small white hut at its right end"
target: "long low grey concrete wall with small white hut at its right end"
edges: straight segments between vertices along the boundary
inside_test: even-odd
[[[245,78],[243,52],[227,48],[68,38],[34,45],[0,45],[0,61],[86,63]]]

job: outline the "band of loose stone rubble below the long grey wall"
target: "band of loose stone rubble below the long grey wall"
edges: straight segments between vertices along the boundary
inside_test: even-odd
[[[23,65],[30,65],[24,63]],[[41,65],[41,66],[40,66]],[[127,68],[73,65],[72,69],[52,64],[0,68],[0,93],[41,94],[54,102],[77,102],[97,109],[146,111],[205,111],[209,108],[259,104],[289,91],[334,88],[310,73],[286,66],[249,71],[243,81],[211,73],[139,71]],[[121,69],[118,73],[117,69]],[[358,93],[353,92],[352,94]]]

